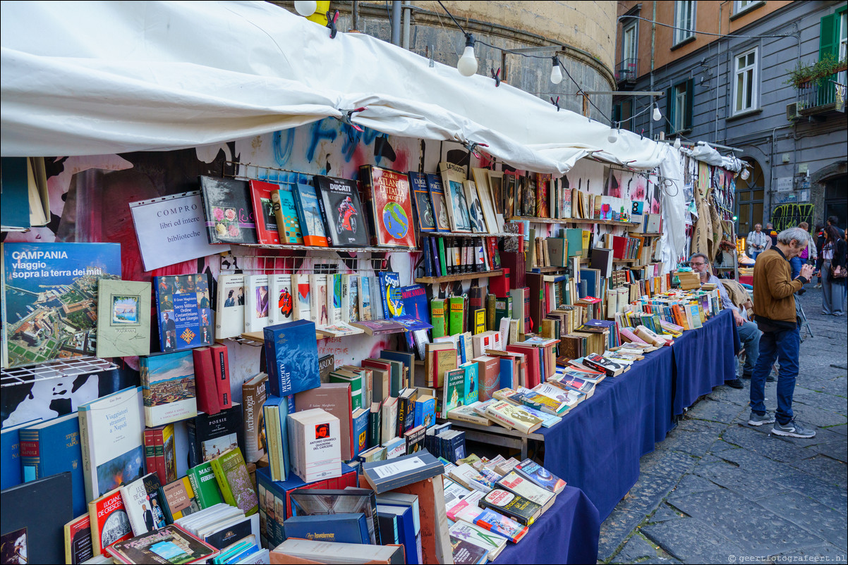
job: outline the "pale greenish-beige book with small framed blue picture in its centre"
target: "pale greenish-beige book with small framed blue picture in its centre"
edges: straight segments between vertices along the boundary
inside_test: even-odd
[[[98,357],[150,353],[150,283],[103,279],[98,283]]]

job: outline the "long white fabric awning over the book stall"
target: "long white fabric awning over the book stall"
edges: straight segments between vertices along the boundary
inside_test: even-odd
[[[593,155],[658,166],[662,144],[464,77],[364,34],[265,2],[4,2],[2,154],[65,156],[232,141],[326,117],[486,144],[518,169]]]

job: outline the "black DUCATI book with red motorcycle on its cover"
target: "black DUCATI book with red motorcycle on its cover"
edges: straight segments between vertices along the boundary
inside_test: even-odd
[[[367,247],[365,213],[355,180],[315,176],[326,235],[334,247]]]

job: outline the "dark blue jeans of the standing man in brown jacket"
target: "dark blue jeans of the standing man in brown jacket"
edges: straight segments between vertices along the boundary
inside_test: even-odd
[[[801,334],[798,326],[793,330],[764,331],[760,336],[760,357],[750,375],[750,410],[766,413],[766,377],[772,371],[775,359],[780,361],[778,373],[778,411],[774,417],[778,423],[788,424],[792,419],[792,395],[798,377],[798,353],[801,349]]]

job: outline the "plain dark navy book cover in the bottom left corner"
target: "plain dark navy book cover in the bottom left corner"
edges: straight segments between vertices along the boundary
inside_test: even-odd
[[[70,485],[70,473],[60,473],[3,490],[4,563],[64,562],[62,531],[74,518]]]

